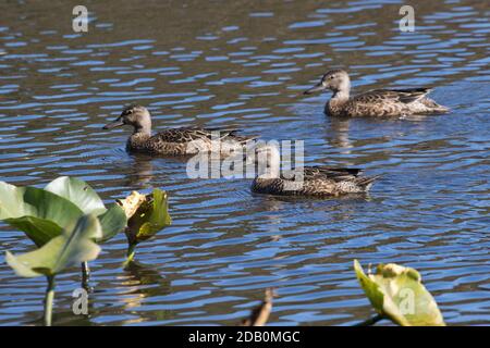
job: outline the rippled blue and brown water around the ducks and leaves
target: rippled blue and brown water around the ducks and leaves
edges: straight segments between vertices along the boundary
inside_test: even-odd
[[[370,315],[352,268],[418,269],[449,324],[490,323],[489,7],[417,1],[73,1],[0,3],[0,179],[87,181],[111,201],[169,191],[173,225],[121,268],[123,235],[91,263],[90,316],[71,311],[77,269],[58,278],[54,324],[235,324],[277,288],[271,324],[350,325]],[[354,92],[436,87],[452,112],[339,120],[328,94],[304,97],[331,67]],[[179,159],[130,156],[130,129],[101,126],[148,107],[156,129],[237,126],[304,139],[307,164],[382,174],[367,198],[281,200],[247,179],[191,179]],[[0,231],[0,324],[39,324],[44,278],[20,278],[4,251],[33,249]]]

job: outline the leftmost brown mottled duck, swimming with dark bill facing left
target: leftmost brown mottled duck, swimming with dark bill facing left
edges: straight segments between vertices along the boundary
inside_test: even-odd
[[[198,152],[231,153],[235,149],[248,146],[256,136],[240,136],[238,129],[180,127],[168,128],[151,135],[151,115],[148,109],[138,104],[130,104],[121,115],[102,129],[112,129],[128,125],[133,134],[126,142],[128,152],[140,152],[150,156],[186,156]]]

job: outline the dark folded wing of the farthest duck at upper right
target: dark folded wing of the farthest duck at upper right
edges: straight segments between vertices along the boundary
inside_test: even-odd
[[[411,103],[424,98],[431,88],[409,88],[409,89],[373,89],[365,94],[355,96],[352,101],[355,103]]]

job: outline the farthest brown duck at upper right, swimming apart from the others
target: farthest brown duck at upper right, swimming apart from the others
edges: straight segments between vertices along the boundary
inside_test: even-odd
[[[431,88],[373,89],[351,97],[351,78],[342,69],[331,70],[305,95],[331,90],[332,98],[324,105],[329,116],[405,116],[444,113],[449,108],[427,97]]]

